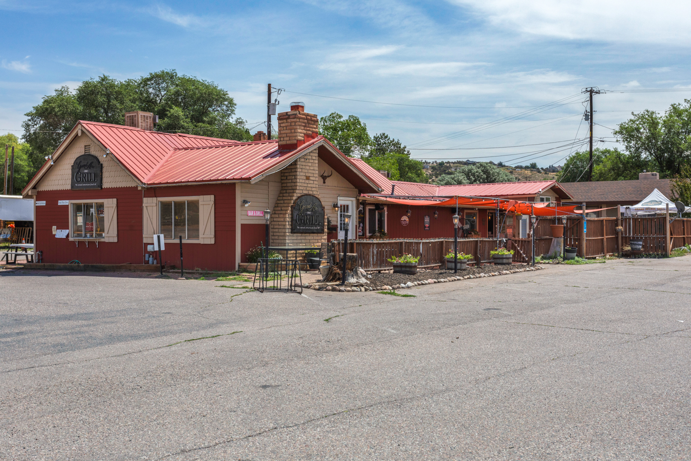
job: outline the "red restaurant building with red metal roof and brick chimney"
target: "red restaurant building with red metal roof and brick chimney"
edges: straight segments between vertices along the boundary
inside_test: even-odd
[[[496,201],[469,197],[540,205],[569,198],[553,181],[390,181],[319,136],[303,103],[278,114],[278,140],[161,133],[152,120],[137,112],[126,114],[129,126],[80,121],[32,178],[22,194],[35,200],[42,262],[143,263],[162,234],[164,263],[180,264],[182,236],[186,268],[235,270],[248,250],[266,245],[265,209],[272,247],[305,247],[342,238],[345,213],[353,216],[350,238],[448,238],[456,197],[465,222],[492,237]]]

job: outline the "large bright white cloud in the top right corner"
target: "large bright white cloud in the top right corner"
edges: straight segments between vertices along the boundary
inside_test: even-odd
[[[683,0],[448,0],[495,24],[533,35],[691,44],[691,2]]]

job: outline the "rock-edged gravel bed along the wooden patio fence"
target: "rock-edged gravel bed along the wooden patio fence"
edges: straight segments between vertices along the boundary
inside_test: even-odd
[[[431,283],[445,283],[460,281],[463,279],[480,279],[497,275],[514,274],[515,272],[527,272],[540,270],[542,267],[536,265],[531,267],[527,264],[502,264],[484,265],[481,267],[469,267],[466,270],[419,270],[415,275],[393,274],[392,272],[382,272],[381,274],[371,274],[372,278],[368,285],[339,285],[337,283],[305,283],[303,288],[312,290],[332,291],[332,292],[371,292],[381,290],[400,290],[402,288],[413,288],[414,286],[430,285]],[[300,286],[299,283],[296,283]]]

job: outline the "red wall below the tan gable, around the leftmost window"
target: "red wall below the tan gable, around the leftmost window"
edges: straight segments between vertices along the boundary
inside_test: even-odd
[[[53,226],[70,228],[68,205],[58,200],[117,198],[117,242],[70,242],[69,238],[55,238]],[[93,191],[39,191],[36,207],[36,250],[43,252],[44,263],[69,263],[76,259],[84,264],[142,263],[142,191],[136,187],[113,187]]]

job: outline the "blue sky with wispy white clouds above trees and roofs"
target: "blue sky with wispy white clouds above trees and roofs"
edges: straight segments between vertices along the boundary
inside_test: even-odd
[[[691,4],[681,1],[0,0],[0,17],[0,133],[21,134],[23,113],[58,86],[174,68],[227,89],[250,127],[265,120],[271,83],[287,90],[280,111],[303,101],[320,116],[358,115],[371,134],[417,149],[554,143],[413,150],[416,158],[547,166],[569,149],[529,152],[574,140],[579,124],[577,138],[587,136],[583,87],[691,87]],[[594,133],[611,136],[631,111],[684,97],[691,92],[597,95]],[[534,107],[557,100],[565,104]]]

